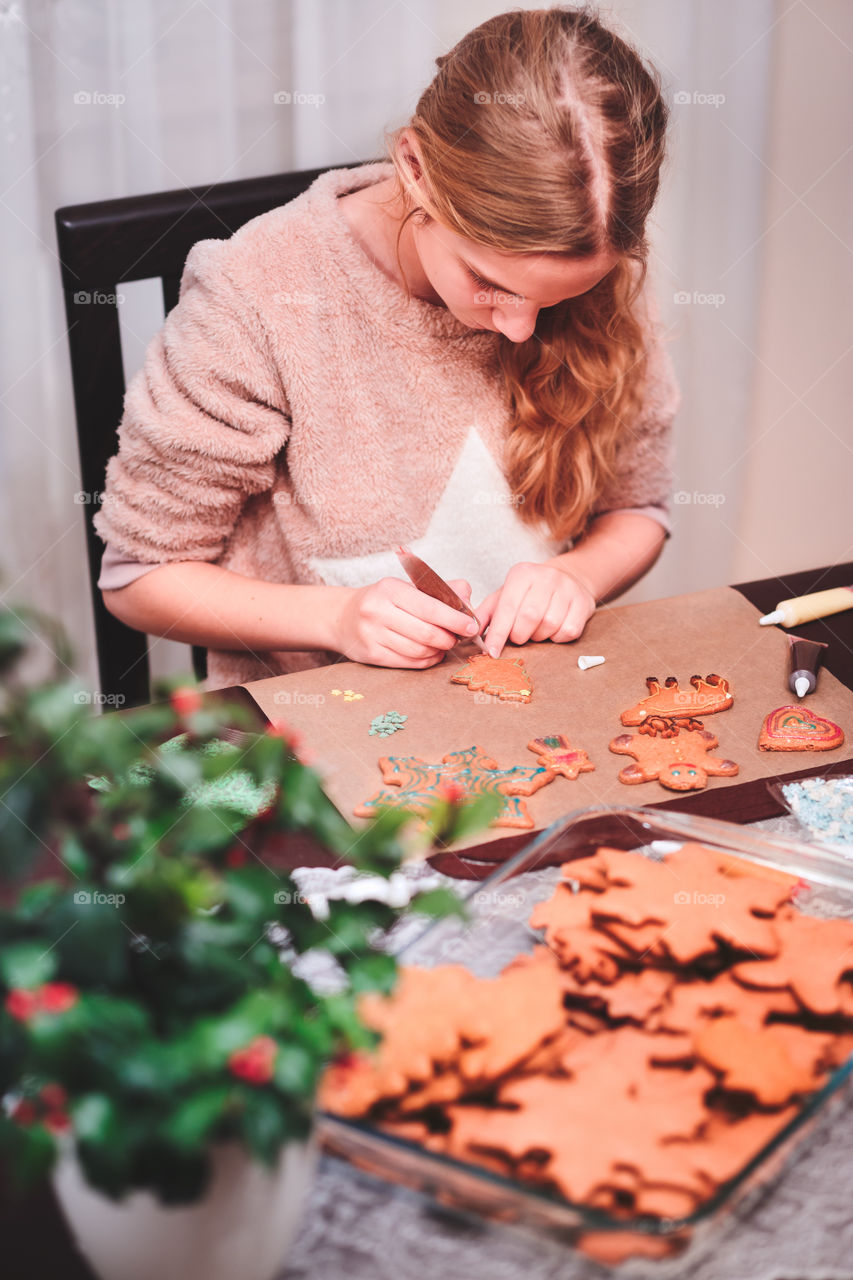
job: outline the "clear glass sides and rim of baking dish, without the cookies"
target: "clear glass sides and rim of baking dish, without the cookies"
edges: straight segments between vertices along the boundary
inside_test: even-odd
[[[601,805],[580,809],[553,823],[470,892],[467,920],[446,919],[430,924],[398,952],[398,960],[421,968],[461,964],[478,977],[494,977],[510,960],[530,952],[542,941],[540,932],[534,932],[526,922],[533,906],[549,897],[562,878],[561,864],[585,858],[599,845],[660,858],[688,841],[798,877],[797,906],[809,915],[853,919],[853,860],[843,854],[751,832],[727,822]],[[803,1149],[815,1128],[836,1107],[848,1103],[853,1093],[848,1083],[852,1071],[853,1055],[806,1098],[785,1128],[735,1178],[679,1219],[616,1216],[574,1204],[553,1192],[426,1151],[362,1120],[320,1112],[318,1124],[320,1138],[332,1153],[371,1174],[415,1188],[444,1207],[544,1231],[581,1248],[584,1242],[594,1239],[598,1261],[629,1260],[620,1267],[620,1275],[637,1267],[646,1274],[649,1266],[663,1275],[671,1262],[649,1263],[648,1258],[658,1249],[678,1253],[680,1270],[685,1261],[704,1252],[730,1210],[735,1204],[743,1207],[749,1194],[765,1194],[774,1178]],[[612,1253],[610,1260],[606,1258],[608,1252]],[[643,1261],[638,1262],[640,1257]]]

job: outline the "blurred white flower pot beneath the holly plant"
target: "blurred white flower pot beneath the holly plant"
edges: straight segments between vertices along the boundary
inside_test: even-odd
[[[296,1234],[315,1161],[313,1138],[283,1147],[273,1169],[223,1144],[213,1152],[204,1199],[165,1206],[150,1192],[109,1199],[88,1185],[72,1148],[56,1162],[54,1188],[102,1280],[272,1280]]]

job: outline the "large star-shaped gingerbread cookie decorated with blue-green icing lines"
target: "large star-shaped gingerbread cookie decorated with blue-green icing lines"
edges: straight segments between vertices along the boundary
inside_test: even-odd
[[[353,809],[356,818],[370,818],[377,809],[411,809],[424,814],[441,796],[441,787],[451,783],[469,800],[485,794],[503,797],[493,827],[533,827],[533,818],[520,797],[533,795],[555,777],[551,769],[523,764],[502,769],[479,746],[451,751],[442,756],[441,764],[429,764],[416,755],[386,755],[379,768],[386,785],[394,790],[377,791]]]

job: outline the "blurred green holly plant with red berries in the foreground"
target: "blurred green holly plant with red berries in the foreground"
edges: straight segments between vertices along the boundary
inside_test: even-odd
[[[19,673],[33,632],[56,657],[36,685]],[[186,682],[93,714],[68,663],[49,620],[0,611],[0,1158],[27,1183],[73,1147],[113,1198],[190,1202],[211,1144],[272,1165],[307,1135],[327,1065],[375,1041],[359,997],[394,984],[383,943],[401,909],[315,914],[292,851],[387,878],[412,817],[353,829],[286,726],[257,732]],[[487,826],[497,803],[441,797],[421,852]],[[433,890],[406,910],[461,908]],[[320,954],[321,987],[301,973]]]

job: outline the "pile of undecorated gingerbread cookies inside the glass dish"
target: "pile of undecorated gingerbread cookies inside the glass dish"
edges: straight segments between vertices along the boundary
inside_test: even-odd
[[[622,1221],[688,1216],[853,1051],[853,922],[802,915],[793,877],[701,845],[602,846],[562,873],[530,918],[548,945],[497,978],[402,970],[365,997],[383,1041],[332,1110]],[[638,1252],[621,1233],[613,1256]]]

